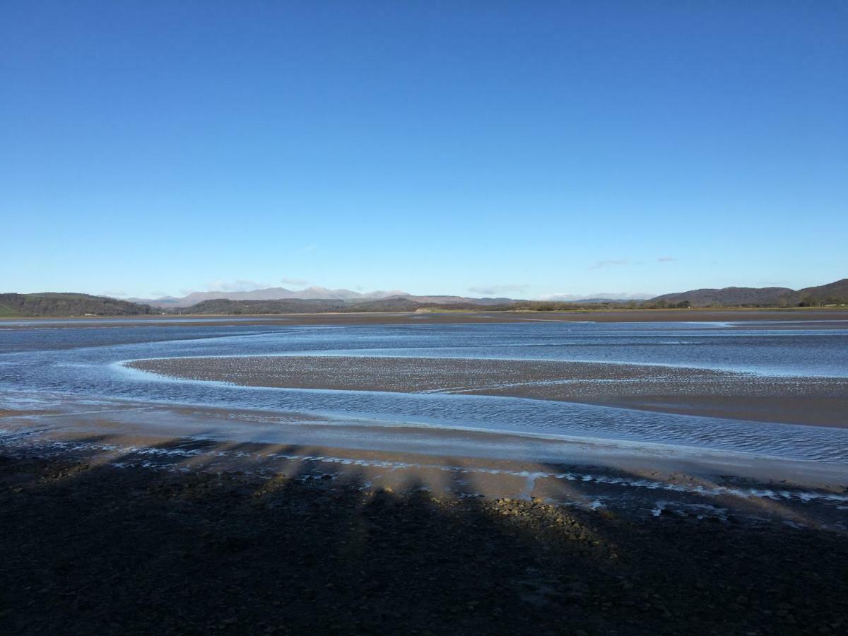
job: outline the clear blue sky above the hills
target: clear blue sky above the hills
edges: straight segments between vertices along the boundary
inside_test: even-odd
[[[848,276],[841,0],[7,0],[0,64],[0,291]]]

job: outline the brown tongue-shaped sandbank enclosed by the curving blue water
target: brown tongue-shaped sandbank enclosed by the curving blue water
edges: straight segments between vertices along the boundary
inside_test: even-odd
[[[245,356],[136,360],[168,377],[243,386],[473,393],[683,415],[848,427],[848,380],[546,360]]]

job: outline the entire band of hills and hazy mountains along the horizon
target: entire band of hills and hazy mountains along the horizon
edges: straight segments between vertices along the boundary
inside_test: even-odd
[[[133,302],[135,301],[135,302]],[[86,293],[0,293],[0,317],[178,314],[284,314],[337,312],[402,312],[416,310],[578,310],[581,308],[663,307],[813,307],[848,304],[848,278],[817,287],[724,287],[666,293],[647,300],[584,298],[582,300],[515,300],[462,296],[413,296],[404,292],[358,293],[348,289],[283,287],[254,292],[198,292],[182,298],[90,296]]]

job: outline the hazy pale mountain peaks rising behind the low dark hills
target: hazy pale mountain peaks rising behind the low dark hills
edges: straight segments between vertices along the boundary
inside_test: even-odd
[[[306,289],[293,290],[285,287],[268,287],[267,289],[254,289],[252,292],[192,292],[187,296],[176,298],[165,296],[163,298],[126,298],[131,303],[149,304],[152,307],[181,308],[191,307],[194,304],[206,300],[341,300],[344,303],[362,303],[369,300],[383,300],[385,298],[406,298],[416,303],[471,303],[471,304],[503,304],[510,302],[510,298],[463,298],[461,296],[413,296],[410,293],[397,290],[391,292],[353,292],[349,289],[327,289],[326,287],[307,287]]]

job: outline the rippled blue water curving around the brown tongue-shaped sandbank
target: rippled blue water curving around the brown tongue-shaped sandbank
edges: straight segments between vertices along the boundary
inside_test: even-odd
[[[24,322],[24,321],[20,321]],[[40,324],[44,324],[43,322]],[[9,323],[5,323],[6,326]],[[795,459],[848,460],[848,431],[474,395],[245,388],[126,370],[139,358],[349,354],[681,365],[782,376],[848,377],[848,329],[718,323],[155,326],[0,329],[0,388],[76,397],[298,410],[385,423],[683,444]]]

